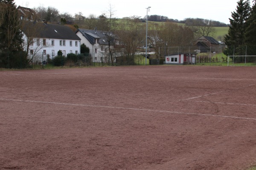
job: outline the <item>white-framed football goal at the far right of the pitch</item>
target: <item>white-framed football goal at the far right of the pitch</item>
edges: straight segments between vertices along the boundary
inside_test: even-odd
[[[230,59],[232,59],[232,63],[230,64]],[[230,65],[246,65],[247,63],[255,63],[256,64],[256,56],[227,56],[227,66]]]

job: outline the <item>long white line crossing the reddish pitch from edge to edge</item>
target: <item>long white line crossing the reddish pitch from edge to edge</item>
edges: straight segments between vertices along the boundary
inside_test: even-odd
[[[116,109],[127,109],[127,110],[137,110],[137,111],[154,111],[154,112],[163,112],[163,113],[180,113],[180,114],[190,114],[190,115],[199,115],[199,116],[214,116],[214,117],[256,120],[256,118],[247,118],[247,117],[221,116],[221,115],[213,115],[213,114],[186,113],[186,112],[175,112],[175,111],[159,111],[159,110],[150,110],[150,109],[122,108],[122,107],[113,107],[113,106],[82,105],[82,104],[72,104],[72,103],[42,102],[42,101],[17,100],[17,99],[0,99],[0,100],[16,101],[16,102],[47,103],[47,104],[58,104],[58,105],[75,105],[75,106],[87,106],[87,107],[98,107],[98,108],[116,108]]]

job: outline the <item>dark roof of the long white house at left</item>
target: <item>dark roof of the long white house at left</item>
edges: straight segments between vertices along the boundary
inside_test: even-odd
[[[23,21],[22,31],[27,37],[81,40],[68,26]]]

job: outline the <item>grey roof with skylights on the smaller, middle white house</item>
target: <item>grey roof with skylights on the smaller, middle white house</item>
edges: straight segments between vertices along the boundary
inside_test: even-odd
[[[80,31],[81,34],[91,43],[94,44],[94,39],[99,39],[99,44],[101,45],[108,45],[108,35],[106,31],[96,31],[96,30],[89,30],[89,29],[77,29],[76,33]],[[112,33],[111,33],[112,34]],[[111,45],[113,43],[114,38],[111,38]]]

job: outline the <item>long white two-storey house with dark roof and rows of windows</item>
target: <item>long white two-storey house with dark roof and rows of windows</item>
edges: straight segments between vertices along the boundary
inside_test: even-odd
[[[81,39],[68,26],[23,21],[22,31],[23,50],[29,51],[32,62],[52,59],[59,50],[64,56],[80,54]]]

